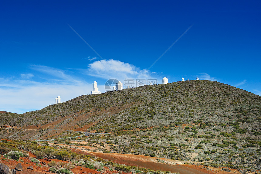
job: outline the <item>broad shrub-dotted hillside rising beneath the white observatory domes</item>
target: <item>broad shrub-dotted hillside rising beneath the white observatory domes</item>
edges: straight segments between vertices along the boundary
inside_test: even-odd
[[[83,95],[24,114],[0,113],[0,137],[59,140],[97,152],[260,168],[261,97],[226,84],[192,80]],[[63,129],[63,130],[54,130]],[[65,131],[74,130],[74,131]],[[260,170],[260,169],[259,169]]]

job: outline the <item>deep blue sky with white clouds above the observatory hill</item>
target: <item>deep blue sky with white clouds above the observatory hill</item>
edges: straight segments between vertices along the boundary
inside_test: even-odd
[[[199,77],[260,96],[260,6],[261,1],[3,0],[0,111],[40,110],[58,95],[64,102],[90,94],[93,81],[104,92],[110,78],[161,83],[163,77]]]

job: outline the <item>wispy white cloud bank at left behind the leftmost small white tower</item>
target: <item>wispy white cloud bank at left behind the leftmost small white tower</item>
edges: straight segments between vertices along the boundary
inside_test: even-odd
[[[77,77],[68,75],[68,71],[33,64],[30,68],[38,71],[34,80],[30,79],[32,74],[21,74],[21,78],[1,77],[0,111],[24,113],[39,110],[54,104],[58,95],[63,102],[90,94],[92,89],[91,83],[76,80]]]

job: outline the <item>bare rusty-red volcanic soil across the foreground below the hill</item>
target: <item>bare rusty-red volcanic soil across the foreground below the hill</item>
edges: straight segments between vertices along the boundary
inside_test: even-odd
[[[155,158],[155,157],[149,157],[144,155],[132,155],[132,154],[116,154],[116,153],[99,153],[99,152],[90,152],[90,151],[83,151],[79,149],[72,149],[72,152],[80,153],[83,155],[92,155],[97,156],[102,159],[107,159],[119,164],[126,164],[131,166],[138,166],[138,167],[144,167],[149,168],[153,170],[163,170],[163,171],[171,171],[171,172],[179,172],[180,174],[229,174],[232,172],[238,173],[235,169],[230,169],[232,172],[225,172],[221,170],[221,168],[213,168],[209,167],[212,171],[207,170],[207,166],[203,165],[188,165],[188,164],[181,164],[182,161],[175,161],[175,160],[169,160],[169,159],[163,159],[163,158]],[[51,174],[52,172],[49,172],[49,166],[47,165],[49,161],[45,159],[39,159],[42,162],[45,162],[46,165],[41,164],[41,166],[36,165],[34,162],[30,161],[30,157],[36,157],[32,153],[29,153],[29,157],[21,157],[24,162],[16,161],[12,159],[6,159],[3,157],[3,155],[0,155],[0,162],[4,163],[9,167],[9,170],[15,169],[15,165],[17,165],[19,162],[22,165],[23,171],[17,171],[19,174]],[[158,162],[156,159],[164,160],[164,163]],[[51,159],[52,161],[61,161],[57,159]],[[67,162],[67,161],[61,161],[61,162]],[[173,163],[179,162],[180,164],[173,165]],[[29,164],[30,163],[30,164]],[[68,163],[68,162],[67,162]],[[172,165],[171,165],[172,164]],[[30,165],[33,166],[33,170],[27,169]],[[71,169],[75,174],[84,174],[84,173],[92,173],[92,174],[100,174],[101,172],[94,170],[94,169],[88,169],[85,167],[75,167],[74,169]],[[110,171],[108,167],[104,167],[104,170],[106,174],[116,174],[118,171]],[[131,172],[132,173],[132,172]],[[252,173],[252,172],[250,172]],[[122,174],[127,174],[125,172],[122,172]]]

